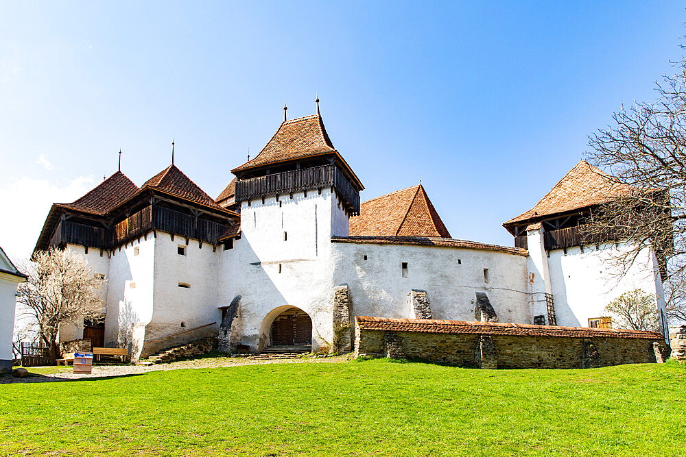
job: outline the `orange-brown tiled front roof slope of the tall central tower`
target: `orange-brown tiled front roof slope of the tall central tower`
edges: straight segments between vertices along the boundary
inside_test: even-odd
[[[232,171],[326,153],[335,153],[335,148],[321,116],[314,114],[281,123],[272,139],[254,159]]]

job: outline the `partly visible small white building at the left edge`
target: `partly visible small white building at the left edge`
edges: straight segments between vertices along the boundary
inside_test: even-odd
[[[12,332],[16,286],[26,276],[14,267],[10,258],[0,247],[0,373],[12,371]]]

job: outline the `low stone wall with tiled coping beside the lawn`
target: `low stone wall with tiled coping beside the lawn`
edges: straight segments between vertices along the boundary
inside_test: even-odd
[[[460,367],[591,368],[654,363],[662,361],[666,349],[663,336],[654,332],[418,319],[355,320],[356,356]]]

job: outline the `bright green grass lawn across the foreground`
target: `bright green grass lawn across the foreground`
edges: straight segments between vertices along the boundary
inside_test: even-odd
[[[0,385],[0,454],[684,456],[686,366],[253,365]]]

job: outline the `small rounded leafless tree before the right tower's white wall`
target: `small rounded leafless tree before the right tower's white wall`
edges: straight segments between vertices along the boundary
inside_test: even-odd
[[[641,289],[619,295],[605,310],[617,317],[617,323],[622,328],[653,331],[659,328],[655,297]]]

